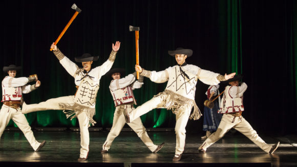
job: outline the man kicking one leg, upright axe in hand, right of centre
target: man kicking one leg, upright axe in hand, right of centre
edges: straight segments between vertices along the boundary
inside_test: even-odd
[[[188,65],[185,59],[193,54],[190,49],[177,48],[174,51],[168,51],[168,54],[174,56],[177,62],[176,66],[169,67],[163,71],[147,71],[136,65],[135,70],[140,75],[149,77],[153,82],[167,82],[164,92],[155,95],[151,100],[132,110],[125,112],[127,122],[132,122],[139,116],[155,109],[165,108],[172,110],[176,114],[176,151],[173,161],[178,161],[184,151],[185,145],[185,127],[188,118],[197,120],[201,116],[195,102],[195,91],[197,80],[200,79],[207,85],[217,85],[220,81],[232,78],[235,73],[223,76],[201,68]],[[192,108],[194,112],[190,115]]]

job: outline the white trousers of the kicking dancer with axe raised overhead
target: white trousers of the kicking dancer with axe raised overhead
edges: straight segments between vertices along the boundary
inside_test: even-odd
[[[63,96],[52,98],[38,104],[27,105],[23,103],[22,113],[31,113],[34,111],[45,110],[64,110],[59,106],[59,103],[74,103],[74,96]],[[80,155],[81,158],[87,158],[89,154],[89,118],[86,112],[81,112],[77,115],[79,129],[80,129]]]

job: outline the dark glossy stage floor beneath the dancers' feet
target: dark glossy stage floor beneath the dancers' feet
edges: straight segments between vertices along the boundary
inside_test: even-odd
[[[162,150],[153,154],[134,132],[121,132],[109,153],[101,154],[107,131],[90,132],[88,160],[77,162],[80,149],[79,132],[34,131],[38,141],[47,140],[40,152],[34,152],[20,131],[5,131],[0,141],[0,165],[19,166],[297,166],[296,136],[265,137],[267,143],[281,141],[269,155],[241,134],[227,135],[211,145],[206,153],[198,153],[203,142],[199,134],[187,134],[185,151],[179,162],[173,162],[175,132],[148,132],[155,144],[165,142]],[[294,145],[294,144],[293,144]],[[151,164],[154,163],[154,164]]]

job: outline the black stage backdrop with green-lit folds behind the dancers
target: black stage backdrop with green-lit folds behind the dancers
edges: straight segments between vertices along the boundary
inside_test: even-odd
[[[49,50],[74,14],[82,12],[58,43],[71,60],[83,53],[99,55],[92,66],[109,57],[112,43],[121,41],[113,68],[133,73],[135,33],[140,27],[139,55],[144,69],[161,71],[176,65],[168,50],[193,50],[188,64],[220,74],[244,75],[243,116],[267,134],[296,132],[296,2],[295,1],[3,1],[0,33],[1,68],[22,66],[17,77],[37,74],[41,87],[24,95],[27,103],[74,95],[74,78]],[[77,64],[81,67],[81,64]],[[6,76],[1,73],[1,78]],[[110,128],[114,103],[111,76],[103,76],[97,95],[95,127]],[[135,90],[138,105],[162,92],[166,83],[144,79]],[[207,85],[197,83],[196,102],[203,113]],[[221,85],[220,91],[224,90]],[[32,127],[78,127],[61,111],[26,114]],[[146,128],[174,128],[171,111],[153,110],[141,116]],[[188,121],[187,132],[202,133],[202,121]],[[11,121],[8,126],[15,126]]]

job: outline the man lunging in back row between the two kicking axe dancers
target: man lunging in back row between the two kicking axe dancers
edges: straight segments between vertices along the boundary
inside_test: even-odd
[[[106,141],[102,145],[101,153],[107,153],[112,145],[113,140],[120,134],[121,130],[125,125],[125,117],[123,111],[128,112],[134,109],[133,104],[136,104],[133,90],[141,88],[143,85],[143,76],[135,81],[136,72],[129,74],[124,78],[121,75],[124,74],[124,69],[115,68],[110,70],[107,75],[111,75],[113,80],[110,83],[109,89],[115,102],[116,110],[114,113],[113,126],[110,133],[107,136]],[[155,145],[147,135],[145,128],[142,125],[140,117],[136,118],[133,122],[128,125],[137,133],[138,137],[143,141],[147,148],[153,153],[157,153],[162,149],[164,143]]]

